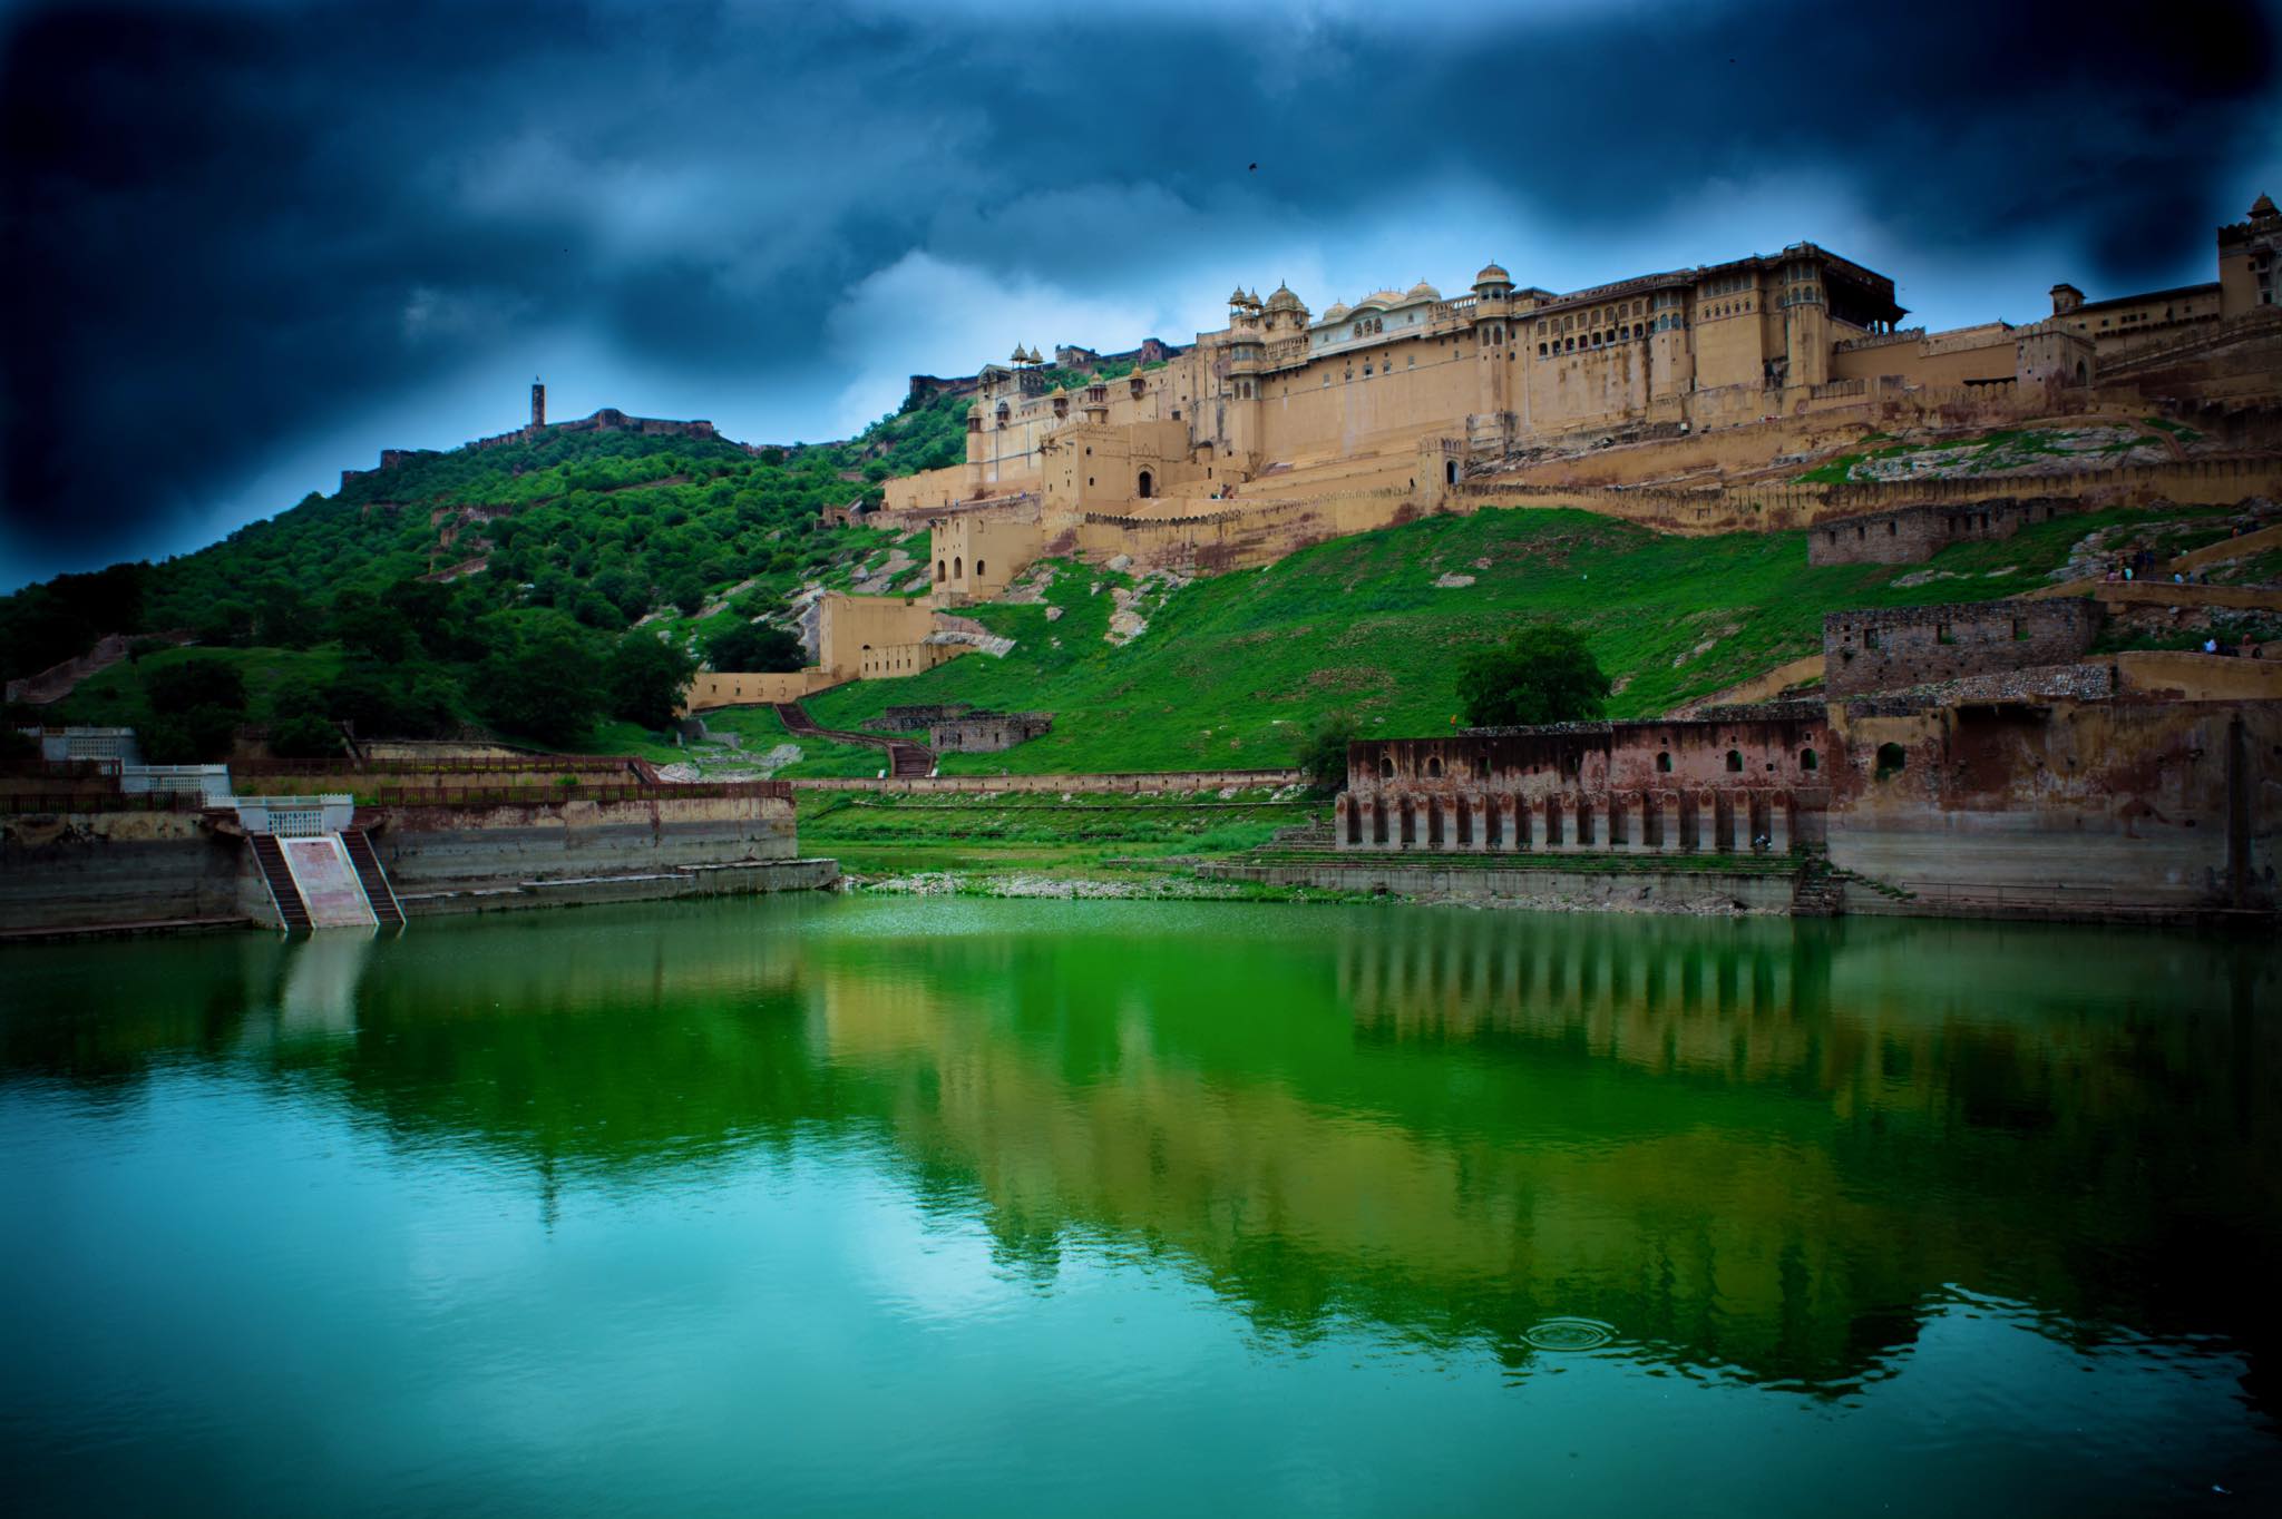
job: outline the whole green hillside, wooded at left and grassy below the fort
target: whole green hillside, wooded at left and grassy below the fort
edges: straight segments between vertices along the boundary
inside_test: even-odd
[[[196,554],[0,600],[0,664],[30,673],[98,634],[144,634],[132,661],[37,716],[130,723],[162,760],[215,757],[233,723],[269,725],[278,753],[331,753],[326,718],[675,757],[671,698],[712,634],[783,620],[806,586],[924,577],[924,534],[831,529],[817,511],[958,458],[963,413],[938,397],[849,442],[758,452],[557,431],[415,454]],[[2166,509],[2166,552],[2218,536],[2220,515]],[[1611,712],[1641,716],[1816,652],[1826,611],[2047,584],[2072,545],[2127,518],[2042,522],[1905,568],[1810,568],[1803,534],[1668,538],[1561,509],[1429,518],[1193,584],[1054,563],[1043,600],[972,609],[1015,641],[1009,657],[842,687],[810,709],[835,728],[895,702],[1054,714],[1052,734],[949,755],[949,773],[1287,764],[1328,712],[1362,732],[1447,730],[1458,657],[1545,616],[1616,677]],[[1104,641],[1120,591],[1148,616],[1130,645]],[[196,648],[173,648],[185,634]],[[707,721],[746,753],[785,741],[764,712]],[[803,750],[792,773],[881,764]]]

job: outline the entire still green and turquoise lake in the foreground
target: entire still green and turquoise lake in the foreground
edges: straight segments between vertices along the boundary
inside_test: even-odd
[[[2282,960],[783,899],[0,956],[14,1512],[2277,1512]]]

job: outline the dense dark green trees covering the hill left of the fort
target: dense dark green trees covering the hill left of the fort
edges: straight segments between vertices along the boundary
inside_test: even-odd
[[[580,744],[605,716],[655,730],[694,666],[701,614],[764,659],[737,668],[799,668],[799,641],[748,618],[867,554],[881,534],[824,529],[819,509],[876,502],[879,479],[961,458],[965,408],[938,397],[822,447],[557,431],[415,454],[196,554],[0,600],[0,666],[27,675],[114,632],[169,634],[137,652],[185,636],[212,652],[338,652],[322,673],[249,684],[258,709],[246,689],[235,705],[162,700],[132,671],[50,709],[157,723],[167,757],[226,750],[230,721],[269,723],[278,753],[338,753],[335,721],[395,737],[472,723],[539,744]],[[628,632],[646,616],[657,625]]]

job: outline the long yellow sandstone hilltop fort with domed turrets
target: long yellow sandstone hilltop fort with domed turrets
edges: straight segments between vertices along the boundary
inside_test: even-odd
[[[2024,326],[1905,326],[1894,281],[1812,242],[1549,292],[1499,265],[1463,294],[1419,281],[1310,310],[1235,290],[1228,326],[1146,342],[1125,379],[1050,385],[1031,347],[963,381],[968,456],[890,479],[879,525],[924,525],[924,595],[840,598],[817,666],[707,673],[691,707],[794,700],[968,652],[942,636],[1041,554],[1221,572],[1433,511],[1563,504],[1673,534],[1846,522],[1819,554],[1988,531],[1985,502],[2067,506],[2273,495],[2282,406],[2282,212],[2218,228],[2216,278],[2088,301],[2052,287]],[[1086,356],[1059,349],[1059,356]],[[2239,447],[2022,479],[1796,484],[1869,431],[1915,436],[2193,417]],[[1969,504],[1947,522],[1921,506]],[[2052,504],[2047,504],[2047,511]],[[1899,520],[1880,513],[1903,511]],[[1994,509],[1999,518],[2013,506]],[[1869,543],[1864,522],[1887,543]],[[1837,534],[1837,529],[1828,529]],[[2001,531],[2001,529],[1999,529]]]

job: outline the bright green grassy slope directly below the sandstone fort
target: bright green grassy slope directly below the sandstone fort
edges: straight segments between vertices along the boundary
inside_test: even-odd
[[[945,773],[1287,764],[1308,723],[1337,707],[1356,712],[1365,732],[1447,730],[1458,655],[1520,618],[1552,616],[1579,627],[1623,682],[1611,714],[1645,716],[1819,652],[1826,611],[2031,591],[2072,543],[2143,515],[2040,522],[1924,566],[1832,568],[1810,568],[1796,531],[1668,538],[1565,509],[1429,518],[1196,582],[1127,648],[1102,641],[1118,577],[1068,566],[1047,591],[1063,607],[1057,623],[1043,604],[972,609],[1018,641],[1009,657],[968,655],[911,680],[840,687],[808,698],[808,709],[833,728],[892,702],[1054,714],[1047,737],[1000,755],[947,755]],[[1445,591],[1435,586],[1445,572],[1476,582]],[[1894,584],[1926,572],[1944,577]]]

